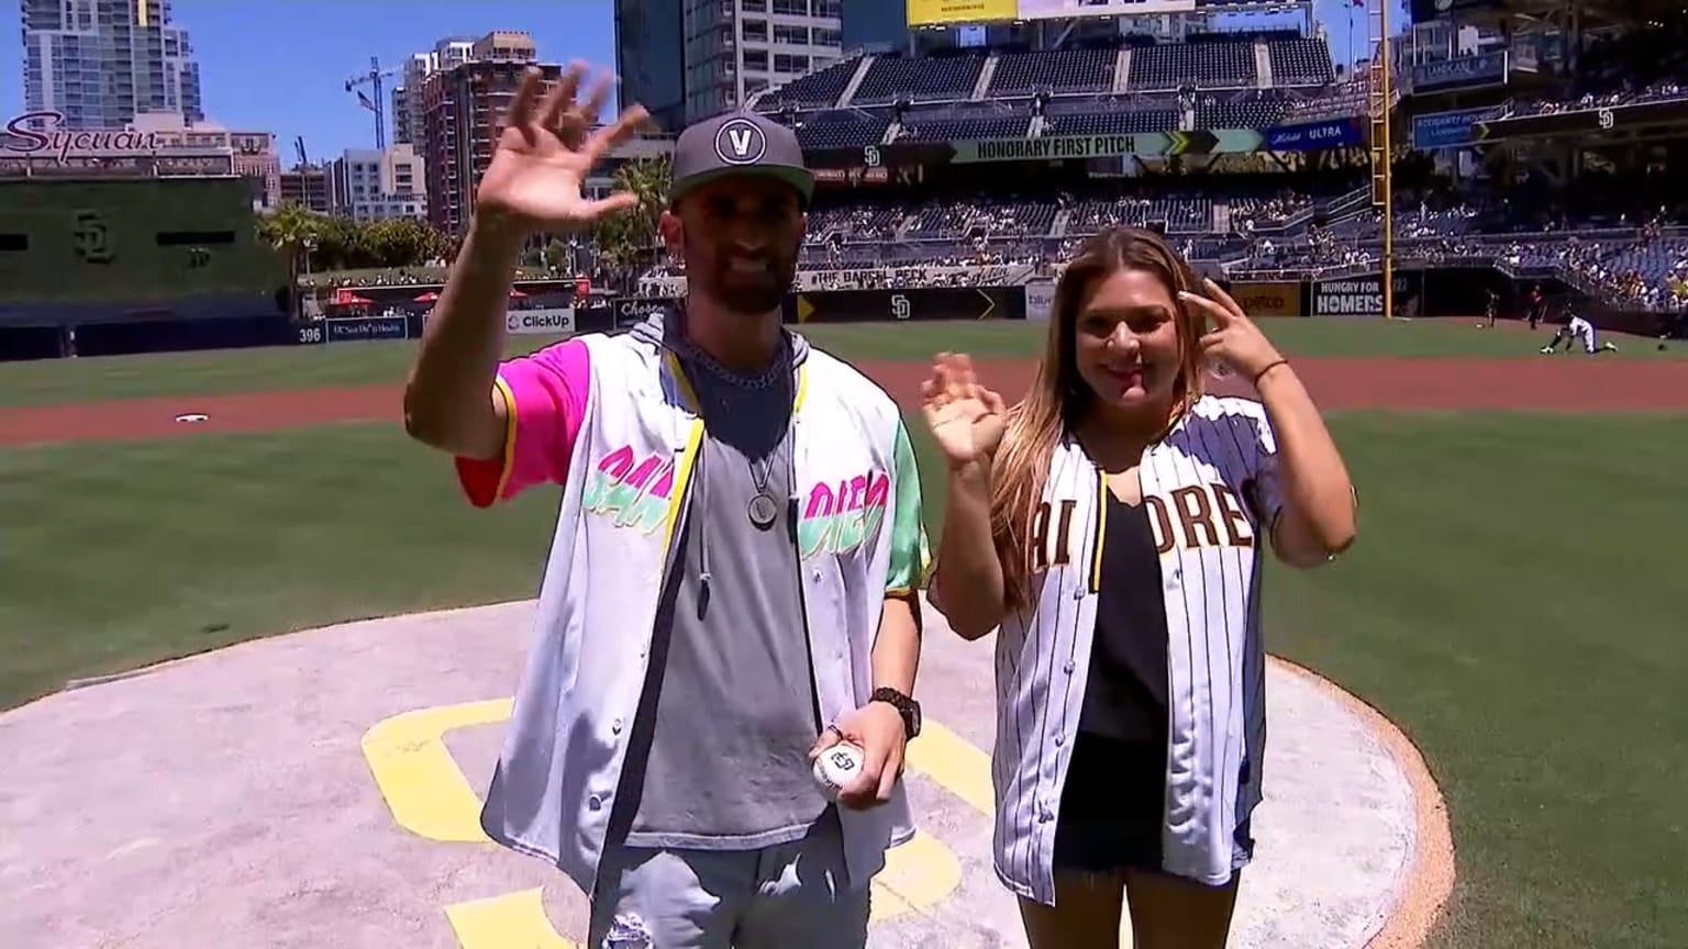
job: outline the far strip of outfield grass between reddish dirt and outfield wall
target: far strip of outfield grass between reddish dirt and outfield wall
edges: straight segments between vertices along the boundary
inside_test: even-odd
[[[1516,324],[1477,329],[1467,319],[1269,319],[1263,326],[1291,356],[1396,358],[1548,358],[1536,353],[1548,333]],[[1028,323],[883,323],[805,326],[817,344],[852,360],[927,360],[939,350],[982,358],[1031,358],[1043,350],[1043,328]],[[1654,341],[1619,338],[1602,360],[1688,358],[1688,344],[1658,351]],[[523,339],[533,348],[544,339]],[[0,409],[59,405],[103,399],[223,395],[348,385],[397,385],[415,343],[343,343],[273,350],[225,350],[89,360],[0,363]],[[1558,358],[1585,358],[1582,353]]]

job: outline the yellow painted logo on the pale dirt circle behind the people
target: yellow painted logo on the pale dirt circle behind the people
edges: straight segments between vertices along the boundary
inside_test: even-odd
[[[510,711],[510,699],[491,699],[400,713],[370,728],[363,735],[363,756],[393,821],[430,841],[484,843],[481,799],[446,748],[446,733],[496,724]],[[908,765],[989,814],[991,760],[950,729],[928,721],[910,745]],[[869,924],[925,912],[949,898],[960,878],[954,851],[930,834],[915,832],[906,844],[886,851],[885,870],[873,878]],[[552,927],[540,890],[452,903],[446,919],[463,949],[577,949]]]

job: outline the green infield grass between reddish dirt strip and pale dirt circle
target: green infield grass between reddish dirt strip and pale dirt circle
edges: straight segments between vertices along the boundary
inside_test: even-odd
[[[1361,542],[1327,571],[1271,571],[1269,648],[1431,762],[1460,871],[1435,946],[1680,946],[1688,417],[1334,427]],[[555,512],[547,493],[469,508],[395,426],[0,451],[0,483],[30,512],[0,545],[0,706],[292,628],[533,596]]]

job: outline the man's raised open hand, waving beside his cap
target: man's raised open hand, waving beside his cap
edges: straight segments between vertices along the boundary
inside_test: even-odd
[[[569,66],[544,100],[540,71],[528,69],[522,76],[493,160],[474,196],[479,211],[525,233],[571,233],[635,206],[636,198],[625,191],[596,201],[581,193],[591,169],[611,147],[628,140],[647,117],[641,106],[633,106],[613,125],[587,135],[609,98],[611,79],[599,78],[591,98],[576,105],[584,74],[584,64]]]

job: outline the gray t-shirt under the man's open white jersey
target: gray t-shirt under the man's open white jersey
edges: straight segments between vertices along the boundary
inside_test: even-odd
[[[827,809],[807,755],[820,721],[793,535],[793,373],[790,355],[746,380],[680,351],[707,437],[635,721],[628,767],[643,751],[643,782],[621,795],[625,843],[758,849],[800,839]],[[763,491],[778,502],[768,529],[748,512]]]

